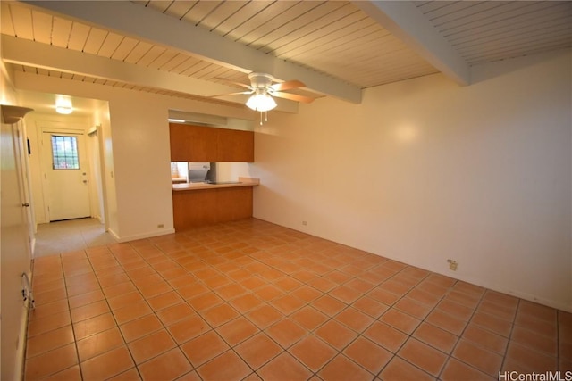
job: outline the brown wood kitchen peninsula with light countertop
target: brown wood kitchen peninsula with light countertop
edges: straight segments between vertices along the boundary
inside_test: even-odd
[[[258,178],[239,178],[236,183],[172,185],[175,230],[252,217],[252,188]]]

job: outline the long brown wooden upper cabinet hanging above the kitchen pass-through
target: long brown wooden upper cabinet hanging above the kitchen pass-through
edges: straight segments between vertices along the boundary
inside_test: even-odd
[[[169,124],[172,162],[254,162],[254,132]]]

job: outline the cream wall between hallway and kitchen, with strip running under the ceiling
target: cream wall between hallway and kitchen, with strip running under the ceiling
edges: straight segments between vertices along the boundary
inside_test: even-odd
[[[94,122],[105,141],[107,224],[120,241],[172,233],[169,109],[246,120],[252,112],[119,87],[15,73],[18,89],[94,98],[109,103]],[[163,225],[163,228],[158,228]]]

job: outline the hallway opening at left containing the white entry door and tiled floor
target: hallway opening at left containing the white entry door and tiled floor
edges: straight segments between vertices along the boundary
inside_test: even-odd
[[[88,118],[67,121],[44,115],[34,117],[29,120],[27,135],[32,205],[36,217],[34,257],[63,253],[71,247],[82,249],[94,242],[115,242],[112,235],[106,233],[109,227],[101,124],[90,128],[93,121]],[[70,221],[70,224],[59,221]],[[50,227],[53,224],[55,226]],[[68,225],[88,226],[88,233],[77,228],[65,231],[63,228]],[[54,239],[52,243],[42,242],[46,235],[57,236],[62,247],[54,247],[58,244]],[[75,239],[71,239],[72,236],[76,236]]]

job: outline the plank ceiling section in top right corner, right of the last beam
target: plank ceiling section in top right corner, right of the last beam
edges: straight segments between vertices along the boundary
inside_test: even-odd
[[[469,65],[572,45],[569,1],[417,1]]]

